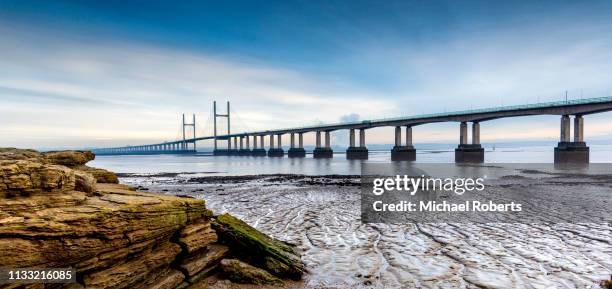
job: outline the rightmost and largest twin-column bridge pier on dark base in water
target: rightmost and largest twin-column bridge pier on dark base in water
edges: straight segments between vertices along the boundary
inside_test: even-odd
[[[561,137],[555,147],[555,163],[588,164],[589,147],[584,142],[584,119],[582,115],[574,117],[574,141],[570,141],[571,120],[569,115],[561,116]]]

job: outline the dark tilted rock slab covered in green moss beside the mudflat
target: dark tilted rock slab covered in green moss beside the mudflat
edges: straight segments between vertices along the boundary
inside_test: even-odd
[[[220,240],[249,252],[257,265],[282,278],[299,280],[304,272],[304,263],[293,246],[275,240],[245,222],[223,214],[213,222]]]

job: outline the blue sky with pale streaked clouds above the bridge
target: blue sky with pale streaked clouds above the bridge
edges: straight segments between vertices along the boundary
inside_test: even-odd
[[[174,140],[183,113],[208,135],[214,100],[240,132],[609,96],[611,15],[605,0],[0,0],[0,147]],[[587,116],[587,142],[612,139],[611,121]],[[500,119],[481,139],[558,128]],[[415,143],[457,139],[456,123],[414,129]]]

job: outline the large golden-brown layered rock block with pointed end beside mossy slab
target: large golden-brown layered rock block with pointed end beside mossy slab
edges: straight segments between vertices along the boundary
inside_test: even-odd
[[[202,200],[111,184],[99,184],[98,190],[104,193],[54,195],[51,200],[63,200],[57,204],[44,196],[0,199],[0,236],[10,236],[0,237],[3,265],[104,267],[143,250],[140,244],[167,242],[187,224],[211,216]]]

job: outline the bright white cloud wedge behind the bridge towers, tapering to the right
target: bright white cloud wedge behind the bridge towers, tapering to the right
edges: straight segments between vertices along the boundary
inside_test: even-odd
[[[232,102],[233,131],[335,122],[350,111],[394,107],[359,87],[256,60],[122,42],[58,39],[43,47],[0,32],[0,53],[11,56],[0,59],[2,146],[174,139],[183,112],[198,114],[202,135],[212,131],[203,122],[213,100]]]

